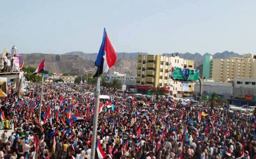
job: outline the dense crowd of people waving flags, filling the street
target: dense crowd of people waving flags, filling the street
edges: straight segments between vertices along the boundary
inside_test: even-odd
[[[1,98],[0,157],[90,158],[94,94],[49,83],[39,121],[40,90],[29,84],[26,95]],[[111,99],[101,99],[96,158],[256,158],[255,113],[170,97],[102,94]]]

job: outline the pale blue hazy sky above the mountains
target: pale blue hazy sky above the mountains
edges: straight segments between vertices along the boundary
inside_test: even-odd
[[[103,28],[116,52],[255,53],[256,1],[0,0],[0,49],[98,52]]]

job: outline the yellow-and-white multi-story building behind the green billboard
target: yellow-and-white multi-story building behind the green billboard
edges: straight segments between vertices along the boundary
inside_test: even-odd
[[[193,91],[193,84],[189,83],[187,94],[183,92],[183,85],[170,78],[172,67],[194,68],[194,61],[185,60],[179,56],[139,55],[137,65],[137,86],[168,87],[174,96],[189,95]]]

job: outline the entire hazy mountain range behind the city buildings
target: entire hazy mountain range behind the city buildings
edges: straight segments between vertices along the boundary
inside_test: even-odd
[[[54,73],[86,73],[95,72],[96,67],[94,66],[94,61],[97,58],[98,53],[83,53],[83,52],[69,52],[63,55],[59,54],[43,54],[43,53],[33,53],[33,54],[23,54],[23,60],[25,61],[25,66],[37,67],[40,61],[46,59],[46,69]],[[137,57],[138,55],[148,55],[147,53],[117,53],[118,61],[117,64],[110,69],[110,71],[118,71],[121,73],[126,73],[128,75],[136,76],[137,72]],[[172,53],[162,54],[165,56],[172,56]],[[176,53],[173,53],[176,55]],[[203,56],[199,53],[177,53],[184,59],[194,60],[195,68],[202,65]],[[213,58],[223,58],[229,59],[231,57],[241,57],[241,55],[224,51],[222,53],[216,53]]]

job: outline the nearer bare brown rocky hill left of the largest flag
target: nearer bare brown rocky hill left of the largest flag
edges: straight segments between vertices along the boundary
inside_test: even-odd
[[[22,54],[24,66],[37,67],[45,58],[45,69],[54,73],[83,73],[84,70],[94,71],[94,62],[75,55],[55,55],[55,54]]]

